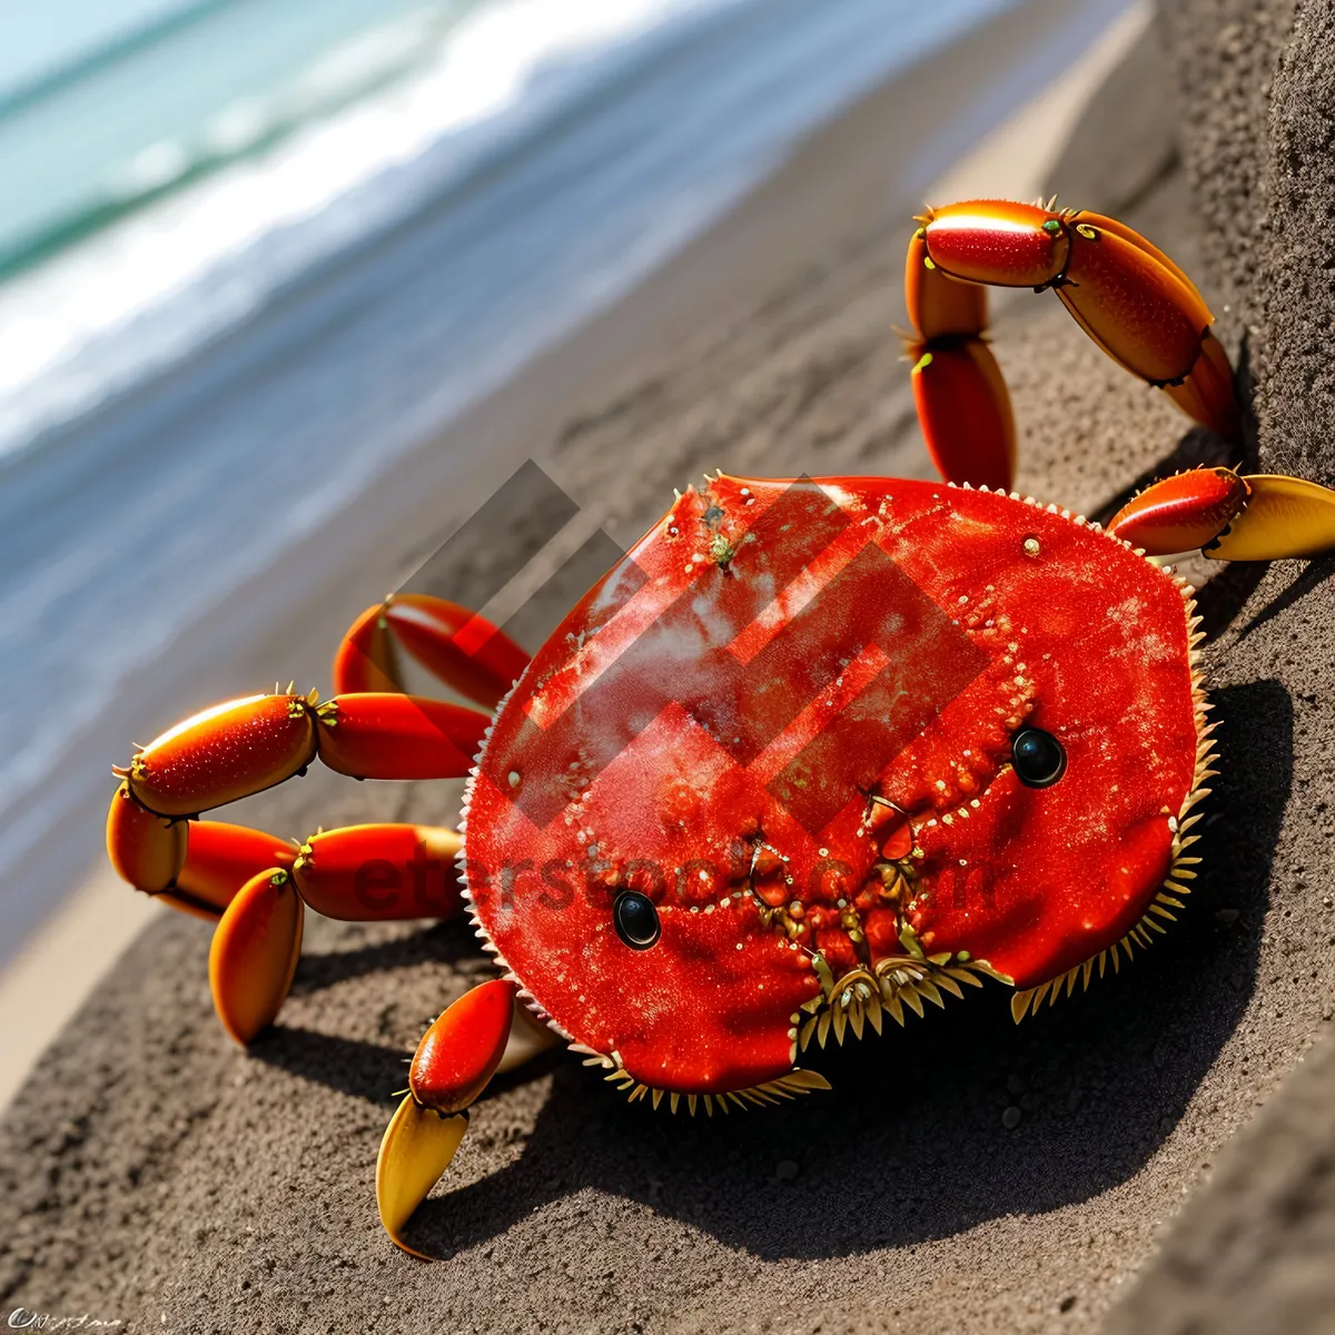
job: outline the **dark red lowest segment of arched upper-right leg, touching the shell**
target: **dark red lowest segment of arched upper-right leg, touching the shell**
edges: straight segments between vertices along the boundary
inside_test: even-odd
[[[918,358],[912,382],[922,435],[941,477],[1009,491],[1015,417],[988,346],[977,338],[936,344]]]

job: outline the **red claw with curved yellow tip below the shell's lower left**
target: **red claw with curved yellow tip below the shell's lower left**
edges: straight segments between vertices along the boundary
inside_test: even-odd
[[[422,1036],[375,1164],[380,1223],[396,1247],[413,1211],[450,1167],[467,1129],[467,1107],[495,1075],[510,1037],[518,987],[493,979],[466,992]]]

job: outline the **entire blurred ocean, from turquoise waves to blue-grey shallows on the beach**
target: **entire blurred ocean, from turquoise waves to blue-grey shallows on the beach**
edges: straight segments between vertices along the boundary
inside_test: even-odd
[[[5,7],[0,955],[96,853],[109,721],[174,700],[214,607],[1012,3]],[[980,113],[1120,8],[1073,7]]]

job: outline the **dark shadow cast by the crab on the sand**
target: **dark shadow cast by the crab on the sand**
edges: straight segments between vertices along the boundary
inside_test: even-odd
[[[999,987],[948,1000],[904,1031],[888,1024],[884,1037],[868,1029],[861,1043],[808,1053],[833,1093],[713,1120],[647,1101],[626,1107],[595,1072],[551,1055],[531,1072],[550,1073],[551,1087],[518,1157],[469,1180],[465,1141],[461,1185],[419,1210],[415,1246],[450,1255],[593,1189],[765,1259],[857,1255],[1055,1210],[1129,1179],[1171,1133],[1248,1004],[1290,793],[1287,690],[1256,681],[1212,698],[1223,773],[1204,808],[1202,877],[1175,929],[1120,975],[1096,976],[1088,993],[1019,1027]],[[376,948],[374,963],[453,951],[457,928]],[[352,973],[363,972],[363,953],[348,952]],[[339,959],[323,968],[336,972]],[[403,1072],[400,1052],[302,1029],[279,1027],[252,1051],[382,1105]],[[490,1101],[475,1109],[470,1139],[481,1144]],[[1011,1105],[1021,1120],[1007,1129]]]

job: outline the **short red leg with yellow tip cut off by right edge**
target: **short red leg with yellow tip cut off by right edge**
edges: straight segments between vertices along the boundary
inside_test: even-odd
[[[1335,551],[1335,491],[1278,474],[1192,469],[1155,482],[1108,525],[1149,555],[1200,547],[1216,561]]]

